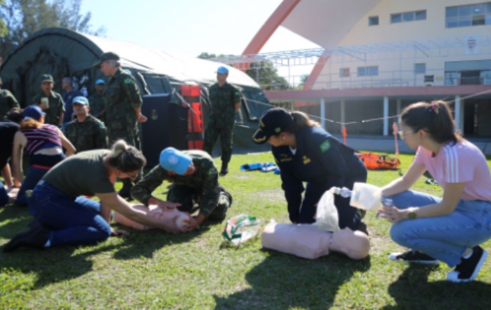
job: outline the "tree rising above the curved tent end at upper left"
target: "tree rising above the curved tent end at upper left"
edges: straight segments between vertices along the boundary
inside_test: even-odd
[[[0,56],[5,57],[29,35],[47,27],[63,27],[94,35],[102,35],[104,27],[92,31],[91,14],[80,13],[82,0],[0,0],[0,19],[5,35],[0,32]],[[1,24],[0,24],[1,28]]]

